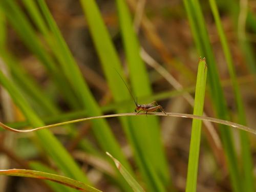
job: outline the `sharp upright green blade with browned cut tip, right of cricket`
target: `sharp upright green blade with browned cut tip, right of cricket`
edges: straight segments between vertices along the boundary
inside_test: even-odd
[[[197,73],[194,115],[203,115],[204,94],[207,79],[205,59],[200,59]],[[202,121],[193,119],[187,168],[186,192],[197,191],[198,159],[200,151]]]

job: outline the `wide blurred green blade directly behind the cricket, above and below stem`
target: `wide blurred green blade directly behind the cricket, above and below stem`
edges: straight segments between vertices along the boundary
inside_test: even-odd
[[[125,55],[130,69],[132,88],[135,95],[138,97],[151,95],[152,89],[150,80],[147,75],[145,64],[140,57],[139,40],[133,28],[129,9],[126,5],[126,2],[123,0],[116,0],[116,5],[118,10],[118,18],[121,28]],[[142,151],[141,155],[144,155],[146,158],[148,158],[148,162],[152,163],[152,166],[155,169],[158,177],[160,178],[160,181],[163,182],[165,187],[169,187],[171,185],[170,177],[167,171],[167,161],[165,159],[163,147],[160,140],[159,120],[156,117],[141,117],[133,119],[132,124],[134,125],[134,127],[141,127],[141,129],[139,130],[136,129],[137,139],[139,141],[138,144],[141,145],[140,147],[151,148],[151,150]],[[145,132],[147,132],[147,137],[144,136],[144,141],[142,142],[139,137],[141,135],[145,135]]]

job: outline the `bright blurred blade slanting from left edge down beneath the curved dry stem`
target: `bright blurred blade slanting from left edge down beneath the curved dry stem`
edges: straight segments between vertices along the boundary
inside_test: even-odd
[[[13,83],[8,80],[2,72],[0,72],[0,82],[9,92],[10,96],[18,108],[23,112],[30,124],[33,127],[43,126],[44,123],[33,112],[27,100],[18,92]],[[56,162],[56,165],[62,170],[63,173],[65,173],[65,175],[85,183],[89,182],[87,177],[82,173],[81,169],[78,168],[77,164],[69,155],[69,153],[50,131],[41,130],[36,133],[36,136],[41,146],[44,147],[45,151],[49,156],[53,158],[53,160]]]

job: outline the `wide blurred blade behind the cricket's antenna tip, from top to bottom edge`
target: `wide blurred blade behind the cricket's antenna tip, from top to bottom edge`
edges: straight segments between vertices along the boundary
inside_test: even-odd
[[[126,89],[125,85],[123,84],[122,80],[120,79],[119,75],[116,72],[117,70],[122,76],[122,72],[120,71],[120,68],[121,68],[120,61],[118,59],[114,46],[111,42],[108,31],[103,24],[97,5],[95,4],[94,1],[81,1],[81,4],[83,6],[84,13],[86,14],[86,18],[89,24],[89,29],[93,37],[97,53],[101,60],[101,64],[102,64],[104,73],[106,75],[106,79],[109,82],[109,86],[113,93],[115,101],[118,102],[118,101],[123,101],[123,100],[127,100],[128,98],[131,98],[129,91]],[[131,108],[125,108],[124,106],[123,109],[118,110],[118,112],[119,113],[124,112],[125,109],[131,109]],[[145,117],[142,117],[142,118],[145,118]],[[133,119],[133,121],[139,122],[137,118]],[[146,126],[139,126],[138,123],[131,123],[130,121],[127,121],[126,118],[121,118],[121,122],[125,128],[125,133],[128,136],[133,146],[136,162],[139,165],[139,168],[143,173],[144,179],[148,184],[147,187],[154,188],[155,190],[159,191],[159,188],[161,189],[163,187],[161,186],[161,182],[159,181],[159,178],[156,175],[156,171],[154,170],[155,167],[152,166],[152,162],[150,162],[151,160],[146,160],[150,158],[145,156],[145,152],[144,152],[145,150],[142,150],[143,147],[141,146],[142,142],[149,143],[148,141],[149,139],[148,139],[148,136],[146,137],[146,134],[147,132],[150,132],[150,128]],[[140,129],[138,129],[138,126],[140,127]],[[143,127],[145,127],[144,129],[146,129],[146,131],[143,131]],[[154,135],[154,137],[155,136],[156,135]],[[148,142],[145,142],[145,141],[148,141]],[[148,145],[144,144],[144,147],[148,147]],[[152,147],[153,152],[154,152],[154,149],[155,148]],[[145,161],[148,161],[148,162],[146,163]],[[146,166],[146,164],[148,164],[148,166]],[[124,166],[126,167],[126,165]],[[153,177],[155,179],[152,179]],[[154,183],[157,183],[155,184],[157,188],[153,186],[151,187],[151,185],[154,185]]]

